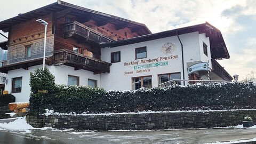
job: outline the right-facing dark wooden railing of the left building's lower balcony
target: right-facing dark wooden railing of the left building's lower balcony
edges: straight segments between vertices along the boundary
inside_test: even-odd
[[[53,65],[68,65],[78,69],[93,71],[96,74],[109,73],[111,63],[87,57],[69,50],[53,51]]]

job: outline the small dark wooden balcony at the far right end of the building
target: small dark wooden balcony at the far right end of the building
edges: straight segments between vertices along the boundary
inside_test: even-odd
[[[212,59],[212,72],[222,79],[225,79],[225,81],[231,82],[233,79],[233,77],[214,59]]]

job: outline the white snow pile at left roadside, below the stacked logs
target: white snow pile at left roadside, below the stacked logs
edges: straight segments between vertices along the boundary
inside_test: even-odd
[[[20,117],[10,123],[0,123],[0,128],[8,130],[29,130],[35,129],[26,122],[25,117]]]

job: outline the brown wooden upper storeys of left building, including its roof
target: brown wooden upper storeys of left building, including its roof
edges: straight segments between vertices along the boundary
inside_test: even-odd
[[[1,45],[2,49],[7,49],[8,55],[0,71],[7,73],[13,68],[34,65],[31,62],[41,63],[35,61],[41,61],[43,57],[44,26],[37,19],[49,23],[46,38],[49,65],[55,65],[57,55],[63,54],[66,55],[61,59],[63,65],[91,70],[94,73],[109,72],[111,65],[100,61],[100,44],[151,34],[142,23],[58,1],[0,22],[0,29],[9,32],[7,43]],[[31,57],[25,56],[28,45],[31,45]],[[78,51],[71,54],[74,47]],[[78,67],[75,62],[80,65],[79,61],[84,65]]]

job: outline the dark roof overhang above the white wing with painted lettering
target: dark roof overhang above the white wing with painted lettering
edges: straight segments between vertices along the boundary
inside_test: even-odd
[[[205,22],[199,25],[189,26],[189,27],[167,30],[160,33],[148,34],[148,35],[138,36],[134,38],[124,39],[118,42],[101,44],[100,47],[116,47],[116,46],[146,42],[154,39],[176,36],[177,34],[182,35],[182,34],[193,33],[195,31],[198,31],[199,34],[205,33],[206,37],[210,38],[211,57],[213,59],[229,59],[230,58],[226,44],[224,42],[224,39],[222,37],[220,30],[215,28],[208,22]]]

